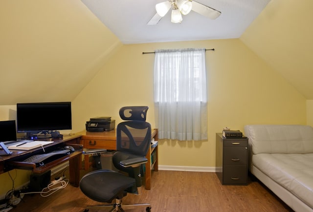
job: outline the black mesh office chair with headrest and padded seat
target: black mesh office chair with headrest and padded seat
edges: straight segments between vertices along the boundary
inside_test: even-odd
[[[142,164],[148,161],[145,156],[151,143],[151,125],[146,122],[147,110],[148,106],[126,106],[119,110],[120,117],[126,121],[116,127],[117,151],[112,161],[116,169],[128,173],[128,176],[113,170],[95,170],[83,176],[80,189],[90,199],[103,203],[111,203],[115,199],[113,205],[87,206],[86,211],[108,208],[110,212],[124,212],[138,207],[151,211],[151,204],[122,205],[127,192],[138,194]]]

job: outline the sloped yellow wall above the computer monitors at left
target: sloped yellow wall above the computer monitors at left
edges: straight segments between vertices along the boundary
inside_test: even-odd
[[[0,105],[72,101],[122,45],[79,0],[1,0],[0,26]]]

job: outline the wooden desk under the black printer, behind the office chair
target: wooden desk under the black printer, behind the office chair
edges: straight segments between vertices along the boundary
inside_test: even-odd
[[[116,131],[115,129],[111,131],[104,132],[89,132],[89,131],[81,131],[78,132],[81,134],[80,144],[84,146],[84,148],[106,148],[116,150]],[[152,130],[151,138],[154,138],[156,141],[157,137],[157,129]],[[151,154],[154,152],[155,158],[154,162],[151,162]],[[148,153],[146,155],[148,162],[146,163],[145,170],[145,188],[147,190],[151,189],[151,170],[158,170],[157,163],[157,146],[155,148],[149,148]],[[89,157],[85,157],[85,170],[89,169]]]

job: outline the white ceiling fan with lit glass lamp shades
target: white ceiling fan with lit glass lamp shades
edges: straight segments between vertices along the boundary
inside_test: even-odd
[[[201,4],[194,0],[167,0],[156,4],[156,15],[148,21],[148,25],[155,25],[166,15],[172,8],[171,21],[180,23],[182,15],[187,15],[191,10],[210,19],[216,19],[221,15],[221,12],[209,6]]]

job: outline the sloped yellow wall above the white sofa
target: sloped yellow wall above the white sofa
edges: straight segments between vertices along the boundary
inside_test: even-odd
[[[271,0],[240,37],[267,64],[313,99],[313,0]]]

